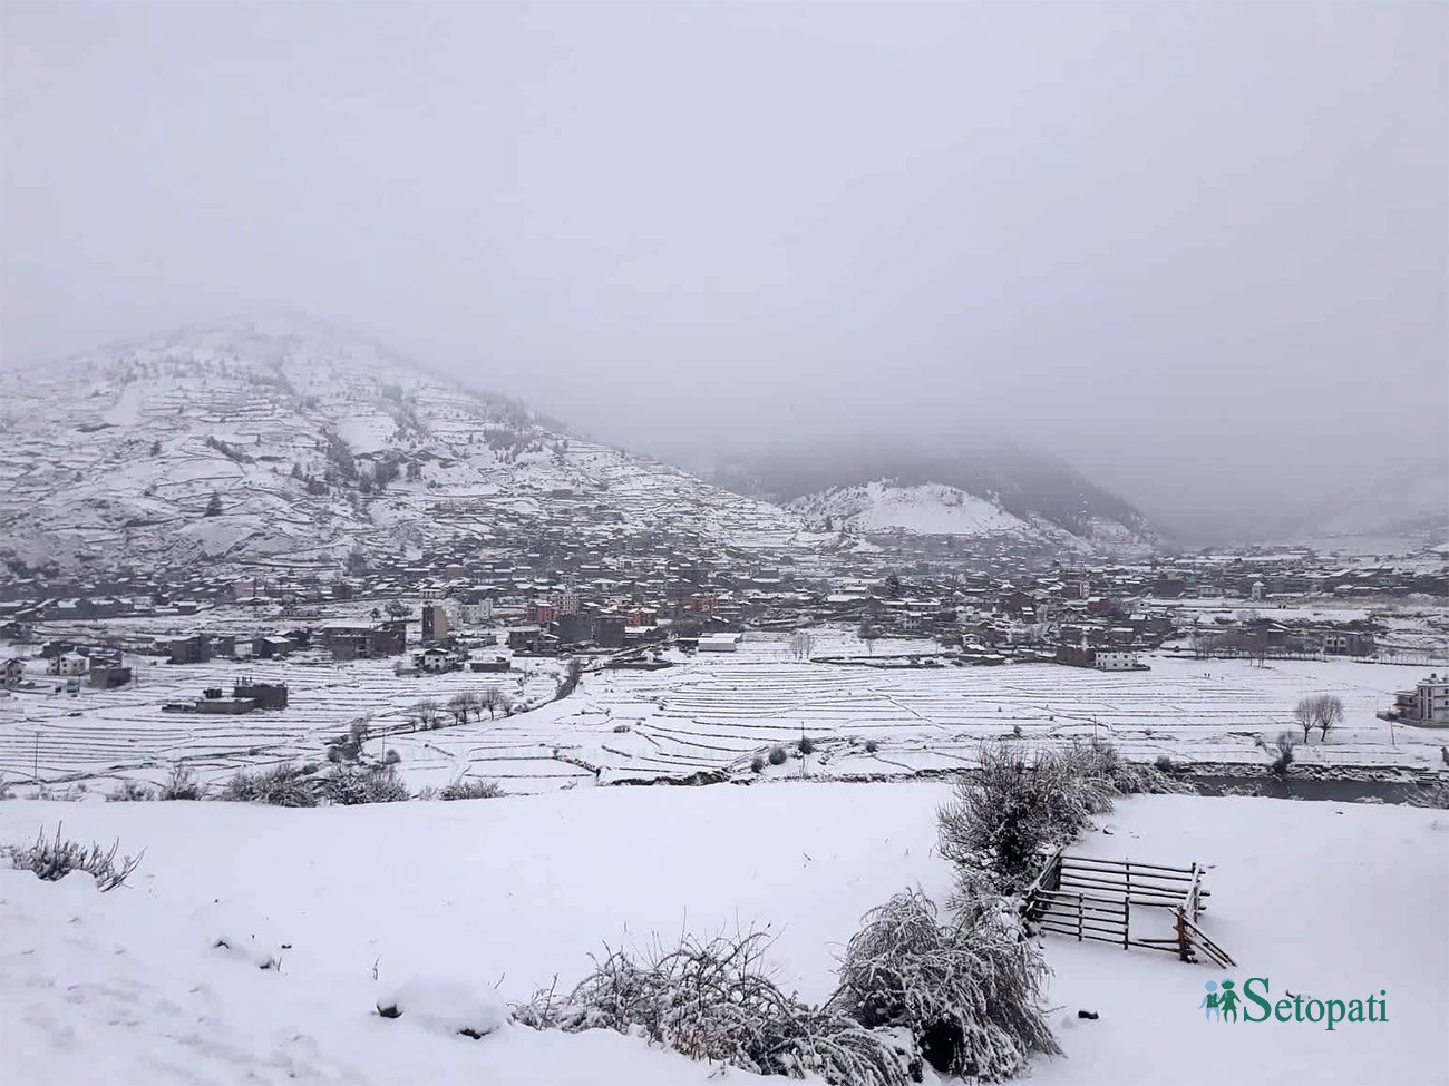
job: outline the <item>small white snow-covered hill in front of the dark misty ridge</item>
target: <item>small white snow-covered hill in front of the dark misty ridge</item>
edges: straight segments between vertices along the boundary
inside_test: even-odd
[[[1046,517],[1010,513],[995,494],[977,495],[939,482],[907,485],[875,479],[858,487],[835,487],[787,502],[816,530],[862,534],[958,536],[998,539],[1062,550],[1146,550],[1155,537],[1116,521],[1094,518],[1088,536],[1078,536]]]

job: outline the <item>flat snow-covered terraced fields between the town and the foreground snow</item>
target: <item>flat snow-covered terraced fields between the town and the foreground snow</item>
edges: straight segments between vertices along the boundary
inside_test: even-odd
[[[881,643],[877,652],[884,652]],[[891,641],[890,652],[929,652]],[[849,634],[822,631],[819,654],[859,653]],[[765,775],[907,775],[971,765],[982,738],[1029,743],[1111,738],[1132,757],[1168,754],[1188,763],[1261,765],[1256,746],[1293,727],[1308,694],[1343,699],[1345,723],[1324,744],[1298,749],[1300,766],[1346,769],[1442,765],[1449,733],[1390,727],[1375,712],[1424,668],[1352,660],[1188,660],[1149,657],[1151,670],[1097,672],[1056,665],[881,669],[801,662],[784,637],[751,634],[738,653],[678,657],[656,672],[593,672],[578,692],[549,702],[555,660],[520,660],[511,673],[398,678],[390,660],[213,660],[139,665],[139,682],[78,696],[17,692],[0,699],[0,773],[10,782],[159,779],[174,760],[223,778],[245,765],[316,759],[323,744],[364,717],[383,733],[416,789],[459,776],[497,778],[513,792],[619,779],[749,772],[752,759],[803,734],[819,744]],[[162,712],[206,686],[239,676],[285,682],[290,705],[242,717]],[[52,681],[54,682],[54,681]],[[420,698],[446,702],[498,686],[529,712],[436,731],[412,731]],[[391,733],[391,734],[387,734]],[[868,750],[867,744],[875,749]],[[597,770],[597,772],[596,772]]]

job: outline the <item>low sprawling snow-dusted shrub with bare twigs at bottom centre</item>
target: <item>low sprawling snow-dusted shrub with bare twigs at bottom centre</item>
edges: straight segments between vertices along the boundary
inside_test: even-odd
[[[648,960],[611,953],[555,1002],[554,992],[513,1008],[535,1028],[643,1032],[696,1060],[756,1074],[819,1074],[840,1086],[906,1086],[910,1058],[848,1015],[781,992],[764,969],[765,937],[685,938]]]

